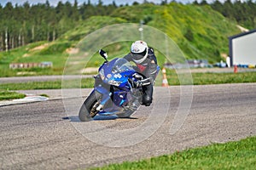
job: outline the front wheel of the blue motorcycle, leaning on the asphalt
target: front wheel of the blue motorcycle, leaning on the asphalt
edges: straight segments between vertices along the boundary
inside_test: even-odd
[[[85,99],[84,104],[81,106],[79,111],[79,119],[81,122],[88,122],[91,121],[94,116],[99,111],[96,111],[97,106],[99,103],[96,99],[96,94],[92,93],[90,96]]]

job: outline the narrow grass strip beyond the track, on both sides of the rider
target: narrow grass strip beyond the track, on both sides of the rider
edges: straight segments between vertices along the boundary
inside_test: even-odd
[[[186,79],[188,74],[179,75]],[[241,83],[241,82],[256,82],[256,72],[241,72],[241,73],[192,73],[194,85],[205,84],[220,84],[220,83]],[[177,77],[177,73],[173,70],[167,70],[167,79],[169,85],[180,85],[181,82]],[[161,79],[157,79],[161,84]],[[189,80],[189,79],[188,79]],[[85,78],[79,80],[67,80],[62,87],[61,80],[49,82],[21,82],[21,83],[3,83],[0,84],[0,90],[32,90],[32,89],[60,89],[60,88],[93,88],[94,79]],[[189,81],[184,81],[183,85],[191,84]]]

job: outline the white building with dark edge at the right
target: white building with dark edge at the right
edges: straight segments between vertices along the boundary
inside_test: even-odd
[[[256,65],[256,29],[230,39],[230,64]]]

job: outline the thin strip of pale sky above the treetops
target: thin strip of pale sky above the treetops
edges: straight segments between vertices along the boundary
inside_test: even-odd
[[[70,3],[73,3],[74,0],[48,0],[50,5],[55,6],[58,2],[67,2],[69,1]],[[116,4],[126,4],[126,3],[133,3],[135,1],[137,1],[138,3],[143,3],[144,0],[114,0]],[[148,2],[154,2],[154,3],[160,3],[162,0],[148,0]],[[167,0],[167,2],[171,2],[172,0]],[[182,2],[182,3],[188,3],[188,2],[193,2],[194,0],[176,0],[177,2]],[[198,2],[200,2],[201,0],[198,0]],[[212,2],[213,0],[207,0],[207,2]],[[219,0],[220,2],[223,2],[224,0]],[[37,3],[45,3],[46,0],[0,0],[0,3],[2,4],[2,6],[4,6],[7,2],[11,2],[13,3],[13,5],[15,5],[16,3],[18,3],[19,5],[22,5],[25,2],[28,3],[32,3],[32,4],[37,4]],[[82,3],[87,3],[88,0],[78,0],[79,4]],[[90,0],[90,3],[98,3],[99,0]],[[109,3],[113,3],[113,0],[102,0],[102,2],[104,4],[109,4]]]

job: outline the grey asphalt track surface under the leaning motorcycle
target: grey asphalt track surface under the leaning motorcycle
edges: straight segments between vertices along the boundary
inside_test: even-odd
[[[171,95],[166,93],[166,89]],[[186,112],[186,107],[190,105],[189,100],[186,101],[187,105],[180,105],[180,101],[189,99],[190,94],[182,91],[181,97],[180,87],[155,88],[154,99],[160,100],[154,101],[150,107],[140,107],[131,119],[97,116],[93,122],[79,122],[76,105],[80,105],[81,99],[76,98],[2,106],[0,168],[96,167],[256,135],[256,83],[194,86],[191,89],[193,100],[188,116],[183,111]],[[68,108],[69,104],[73,108]],[[177,116],[185,116],[186,119],[173,134],[170,133],[170,127]],[[159,120],[163,121],[148,138],[121,147],[107,146],[114,143],[112,136],[108,136],[109,144],[99,144],[101,136],[93,141],[78,128],[89,128],[91,123],[98,123],[106,129],[123,132],[139,127],[148,119],[152,127]],[[144,131],[138,132],[134,136],[131,134],[132,138],[143,136]],[[127,136],[119,141],[129,141],[129,138]]]

